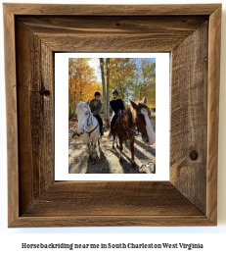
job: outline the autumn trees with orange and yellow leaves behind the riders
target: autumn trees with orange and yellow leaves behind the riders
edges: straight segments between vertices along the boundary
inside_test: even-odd
[[[74,100],[88,101],[101,93],[101,114],[107,122],[112,114],[109,102],[117,89],[125,109],[129,101],[147,98],[147,105],[156,112],[156,59],[154,58],[69,58],[68,117],[74,117]]]

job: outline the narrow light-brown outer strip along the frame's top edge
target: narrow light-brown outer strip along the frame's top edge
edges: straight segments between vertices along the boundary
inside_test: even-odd
[[[210,15],[219,4],[190,5],[53,5],[5,3],[15,15],[177,16]]]

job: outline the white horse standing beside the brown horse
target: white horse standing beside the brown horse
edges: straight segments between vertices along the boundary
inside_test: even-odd
[[[89,150],[89,159],[97,159],[96,144],[98,142],[100,149],[100,126],[97,119],[92,115],[89,108],[89,100],[87,102],[74,101],[77,108],[75,114],[78,119],[77,133],[83,133],[83,141],[87,144]]]

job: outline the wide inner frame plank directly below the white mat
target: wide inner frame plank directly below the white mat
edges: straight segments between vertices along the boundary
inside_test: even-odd
[[[23,217],[140,215],[203,213],[169,181],[57,181],[23,213]]]

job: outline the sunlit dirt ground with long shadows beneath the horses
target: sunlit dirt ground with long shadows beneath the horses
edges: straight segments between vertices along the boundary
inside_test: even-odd
[[[152,125],[156,132],[156,119],[152,119]],[[69,122],[68,133],[68,171],[69,174],[155,174],[156,173],[156,143],[147,146],[141,136],[136,136],[134,143],[134,160],[136,167],[130,164],[131,152],[123,144],[122,163],[119,163],[119,149],[113,149],[113,142],[107,139],[108,131],[104,132],[101,141],[101,152],[97,147],[98,159],[96,162],[88,161],[87,145],[83,144],[82,135],[72,139],[71,136],[76,128],[75,122]],[[153,162],[151,167],[140,168],[143,164]]]

